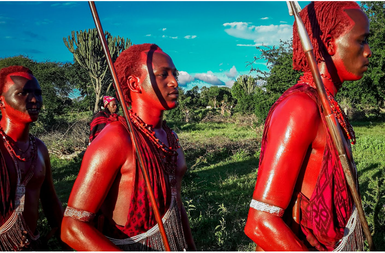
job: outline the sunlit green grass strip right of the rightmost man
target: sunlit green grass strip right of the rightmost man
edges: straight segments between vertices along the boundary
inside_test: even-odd
[[[362,205],[376,250],[385,251],[385,123],[357,122],[353,127]]]

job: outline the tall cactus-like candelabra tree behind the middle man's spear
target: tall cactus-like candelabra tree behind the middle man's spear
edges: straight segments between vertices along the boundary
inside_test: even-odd
[[[109,32],[105,31],[105,36],[110,50],[112,60],[119,54],[131,46],[129,39],[113,37]],[[71,32],[71,36],[63,38],[64,44],[68,50],[73,53],[75,61],[87,71],[90,77],[90,83],[87,83],[87,93],[89,87],[95,94],[95,103],[93,111],[99,109],[99,101],[103,98],[112,86],[112,79],[108,70],[107,60],[104,56],[102,44],[98,37],[97,29],[88,29],[83,31]],[[75,48],[76,46],[76,48]]]

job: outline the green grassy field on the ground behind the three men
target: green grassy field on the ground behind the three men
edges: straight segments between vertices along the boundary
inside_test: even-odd
[[[385,123],[353,123],[360,192],[378,251],[385,250]],[[243,229],[258,171],[262,128],[250,122],[172,124],[185,150],[188,171],[182,199],[198,250],[249,251]],[[59,198],[66,205],[81,157],[51,158]],[[47,231],[46,220],[39,229]],[[55,239],[51,249],[57,249]]]

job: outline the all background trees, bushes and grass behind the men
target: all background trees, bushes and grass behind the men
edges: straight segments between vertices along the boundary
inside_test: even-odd
[[[336,99],[356,132],[353,156],[360,193],[375,245],[383,251],[385,4],[361,2],[361,6],[370,20],[368,42],[373,56],[364,78],[346,83]],[[115,58],[131,45],[128,39],[113,37],[108,32],[106,36]],[[0,68],[30,68],[41,85],[44,107],[31,132],[49,148],[56,190],[64,206],[88,143],[88,123],[102,105],[101,96],[115,96],[94,30],[73,32],[65,43],[74,54],[73,64],[37,62],[27,55],[0,59]],[[291,41],[273,47],[260,46],[257,50],[259,56],[248,63],[250,74],[239,76],[231,88],[179,88],[178,107],[165,113],[187,160],[182,198],[198,250],[255,249],[243,229],[258,172],[264,119],[274,101],[302,74],[292,69]],[[260,59],[266,61],[267,72],[254,68],[254,62]],[[70,99],[74,89],[80,96]],[[50,228],[40,214],[38,228],[44,236]],[[59,249],[55,238],[50,239],[49,249]]]

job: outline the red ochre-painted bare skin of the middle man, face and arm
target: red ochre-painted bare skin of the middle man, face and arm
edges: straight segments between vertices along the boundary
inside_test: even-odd
[[[163,111],[175,108],[178,104],[177,70],[170,56],[159,50],[141,52],[141,62],[138,64],[141,65],[141,75],[129,76],[127,83],[122,85],[128,85],[130,89],[132,111],[152,125],[157,138],[168,145],[166,132],[162,128]],[[179,148],[177,152],[175,177],[180,205],[181,180],[187,167],[183,150]],[[135,172],[130,136],[121,123],[111,122],[87,148],[68,206],[92,213],[101,210],[106,219],[124,226]],[[195,244],[183,205],[180,205],[180,211],[187,245],[194,250]],[[80,251],[120,250],[92,224],[68,217],[63,219],[62,238]]]

